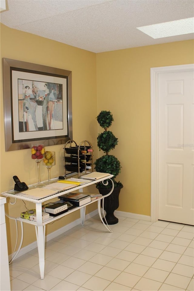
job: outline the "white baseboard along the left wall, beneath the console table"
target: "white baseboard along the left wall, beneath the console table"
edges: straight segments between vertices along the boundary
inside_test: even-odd
[[[91,217],[95,216],[96,214],[98,214],[98,209],[86,214],[85,216],[85,220],[90,219]],[[52,233],[49,233],[47,236],[45,236],[45,242],[52,240],[53,238],[55,238],[56,236],[59,236],[62,233],[65,233],[65,231],[70,230],[71,228],[77,226],[80,224],[80,218],[76,219],[74,221],[72,221],[71,223],[65,225],[64,227],[59,228],[58,230],[53,231]],[[24,246],[18,253],[18,255],[16,256],[16,258],[25,255],[26,253],[28,253],[31,250],[34,250],[37,247],[37,241],[30,243],[27,246]],[[15,252],[16,253],[16,252]],[[15,255],[15,253],[13,254],[13,256]],[[12,254],[9,255],[9,261],[12,258]]]

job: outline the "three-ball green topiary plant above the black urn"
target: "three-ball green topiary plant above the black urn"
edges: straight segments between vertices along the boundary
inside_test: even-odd
[[[121,187],[122,183],[116,182],[115,177],[121,172],[121,164],[119,160],[113,156],[109,155],[109,151],[113,150],[115,146],[118,143],[118,138],[114,136],[112,131],[108,131],[107,128],[109,128],[112,125],[112,121],[114,121],[112,117],[112,113],[110,111],[101,111],[99,115],[96,117],[99,125],[104,128],[104,131],[100,134],[98,134],[97,137],[97,145],[99,147],[99,150],[102,150],[105,155],[98,158],[94,164],[95,164],[95,170],[97,172],[101,173],[109,173],[113,175],[113,182],[115,187]],[[108,184],[107,186],[103,185],[102,182],[99,182],[97,184],[97,188],[101,187],[112,187],[111,184]]]

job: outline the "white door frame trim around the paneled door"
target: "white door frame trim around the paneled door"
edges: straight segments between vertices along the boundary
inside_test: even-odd
[[[194,64],[150,68],[151,79],[151,221],[158,220],[159,200],[159,142],[158,142],[158,79],[162,73],[194,70]]]

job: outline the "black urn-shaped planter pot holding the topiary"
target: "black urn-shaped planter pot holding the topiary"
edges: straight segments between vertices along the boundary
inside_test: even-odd
[[[106,211],[105,219],[107,221],[107,224],[116,224],[119,222],[118,218],[115,217],[114,211],[119,207],[119,193],[122,189],[123,185],[120,187],[115,187],[113,192],[108,196],[104,198],[104,210]],[[108,194],[111,189],[107,188],[98,188],[99,193],[103,196]],[[102,200],[101,200],[101,207],[102,207]],[[106,224],[106,221],[104,220],[104,223]]]

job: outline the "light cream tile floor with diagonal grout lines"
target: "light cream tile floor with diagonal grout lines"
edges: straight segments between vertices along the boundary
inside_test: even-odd
[[[11,290],[194,290],[194,227],[118,217],[112,233],[95,216],[10,265]]]

